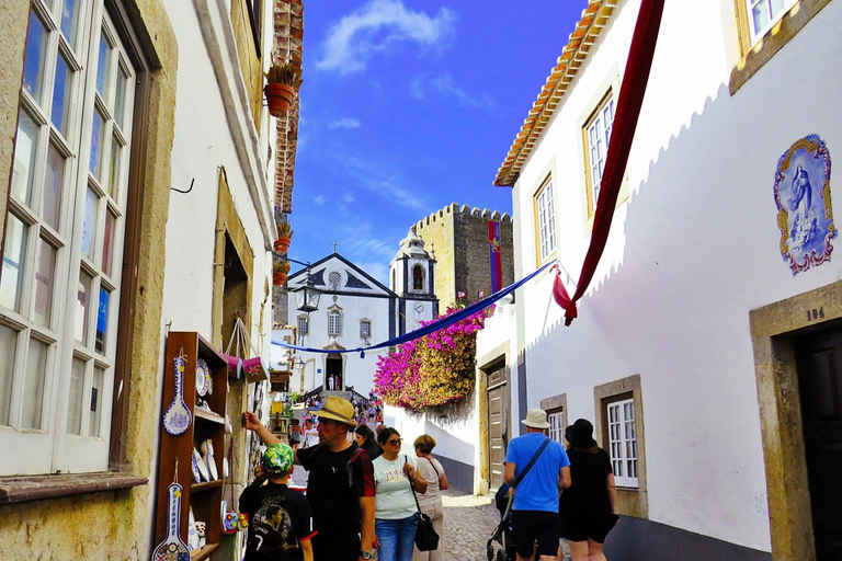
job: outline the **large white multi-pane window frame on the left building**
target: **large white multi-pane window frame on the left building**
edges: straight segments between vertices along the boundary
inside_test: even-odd
[[[0,476],[105,471],[109,467],[136,73],[102,0],[76,2],[77,27],[72,45],[61,28],[61,0],[49,3],[33,0],[31,4],[30,16],[37,18],[44,26],[45,41],[42,45],[41,91],[32,95],[25,87],[21,90],[20,113],[26,113],[37,126],[32,191],[30,201],[10,196],[8,208],[7,224],[18,219],[26,225],[27,231],[24,234],[26,245],[21,272],[23,282],[20,285],[20,305],[14,309],[0,305],[0,324],[16,332],[11,368],[10,420],[8,425],[0,426],[0,448],[14,449],[15,454],[0,457]],[[109,45],[107,71],[102,93],[98,91],[96,83],[101,38]],[[58,57],[62,57],[69,67],[62,108],[67,121],[62,129],[52,122]],[[123,129],[113,116],[118,77],[124,77]],[[98,147],[99,179],[89,171],[94,111],[103,117],[100,128],[102,142]],[[110,173],[112,142],[121,147],[115,161],[116,174],[113,176]],[[50,146],[65,158],[57,230],[43,217],[41,208]],[[110,185],[112,180],[113,185]],[[110,187],[115,190],[110,193]],[[86,202],[89,190],[94,197],[93,214],[90,215],[93,220],[92,227],[83,233],[87,228]],[[113,219],[109,248],[111,275],[105,274],[106,267],[102,261],[106,213]],[[90,256],[82,254],[84,236],[88,237]],[[39,324],[35,316],[35,273],[42,243],[56,249],[48,325]],[[90,278],[84,317],[79,316],[78,307],[80,272]],[[105,336],[100,339],[98,345],[101,288],[106,289],[110,296],[105,310]],[[80,321],[81,324],[87,322],[87,331],[82,333],[83,342],[75,337],[75,327]],[[48,345],[42,382],[39,428],[22,425],[30,341]],[[77,378],[78,386],[71,391],[72,367],[78,364],[73,359],[81,360],[83,365]],[[0,376],[3,375],[0,371]],[[95,391],[94,382],[100,386]],[[94,393],[98,408],[95,413],[91,411]],[[79,434],[73,435],[67,434],[71,394],[76,397],[75,403],[79,407],[77,419],[80,424]],[[91,428],[96,434],[91,434]]]

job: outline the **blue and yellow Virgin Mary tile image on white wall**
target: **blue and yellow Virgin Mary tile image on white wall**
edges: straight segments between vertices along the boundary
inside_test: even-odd
[[[778,160],[775,204],[781,254],[793,275],[830,261],[839,232],[830,204],[830,152],[818,135],[796,141]]]

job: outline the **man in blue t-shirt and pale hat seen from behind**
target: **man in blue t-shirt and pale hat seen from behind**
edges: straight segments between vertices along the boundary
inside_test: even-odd
[[[526,434],[509,443],[503,473],[503,480],[515,488],[512,531],[517,561],[532,558],[536,541],[542,561],[557,560],[558,492],[570,486],[570,460],[565,448],[544,434],[549,428],[545,411],[528,410],[522,423]]]

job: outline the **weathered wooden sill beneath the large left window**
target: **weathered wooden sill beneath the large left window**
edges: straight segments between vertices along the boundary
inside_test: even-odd
[[[0,505],[130,489],[148,482],[148,479],[134,473],[107,471],[0,478]]]

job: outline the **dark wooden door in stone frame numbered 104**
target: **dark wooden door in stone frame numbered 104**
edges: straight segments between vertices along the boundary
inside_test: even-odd
[[[842,328],[796,340],[817,561],[842,559]]]

